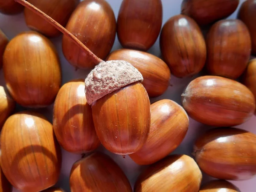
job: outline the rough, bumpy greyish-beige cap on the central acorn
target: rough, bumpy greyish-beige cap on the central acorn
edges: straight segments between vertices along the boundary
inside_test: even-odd
[[[85,96],[89,105],[128,84],[143,81],[141,73],[121,60],[99,63],[85,79]]]

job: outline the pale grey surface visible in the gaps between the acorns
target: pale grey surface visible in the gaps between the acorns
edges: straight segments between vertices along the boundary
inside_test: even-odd
[[[121,4],[121,0],[107,0],[108,3],[113,8],[113,11],[117,17],[119,12],[119,7]],[[240,5],[244,0],[240,0]],[[163,24],[172,16],[177,15],[180,13],[180,5],[182,0],[162,0],[163,3]],[[237,14],[234,12],[230,18],[235,18]],[[24,22],[23,13],[15,16],[7,16],[0,14],[0,28],[3,30],[3,32],[12,39],[20,32],[29,30],[26,27],[26,24]],[[67,81],[70,81],[71,79],[78,79],[82,78],[85,79],[88,72],[87,70],[75,70],[74,67],[72,67],[67,60],[64,58],[62,50],[61,50],[61,40],[62,36],[59,38],[53,38],[51,41],[55,44],[56,48],[58,49],[58,53],[61,59],[61,67],[62,67],[62,84],[64,84]],[[121,48],[118,39],[116,38],[115,44],[113,46],[112,50]],[[148,51],[154,55],[160,56],[160,48],[159,48],[159,39],[154,44],[154,46]],[[172,76],[171,84],[172,87],[169,87],[169,89],[164,93],[162,96],[158,98],[151,99],[151,102],[157,101],[159,99],[172,99],[175,102],[180,104],[180,95],[184,89],[184,87],[192,80],[193,78],[185,78],[185,79],[177,79],[174,76]],[[5,82],[3,79],[3,70],[0,71],[0,85],[5,86]],[[17,111],[23,110],[23,108],[18,107]],[[39,112],[43,113],[47,116],[47,118],[52,121],[52,105],[48,108],[38,110]],[[198,134],[203,133],[209,127],[202,125],[201,123],[198,123],[194,121],[193,119],[189,119],[189,131],[186,134],[185,139],[181,143],[181,145],[173,152],[173,154],[187,154],[191,156],[192,152],[192,146],[195,141],[195,138],[198,136]],[[253,116],[249,121],[244,123],[243,125],[237,126],[238,128],[243,128],[247,131],[251,131],[254,134],[256,134],[256,116]],[[99,148],[100,151],[104,151],[105,153],[109,154],[113,160],[115,160],[119,166],[122,168],[122,170],[127,175],[128,179],[131,182],[131,185],[133,186],[137,176],[140,174],[140,172],[146,168],[146,166],[138,166],[136,163],[134,163],[129,156],[126,156],[126,158],[122,158],[120,155],[111,154],[110,152],[106,151],[102,146]],[[81,158],[80,155],[71,154],[67,151],[62,150],[62,156],[63,156],[63,163],[62,163],[62,169],[61,169],[61,176],[59,178],[58,183],[56,186],[61,186],[63,189],[66,190],[66,192],[70,192],[69,188],[69,175],[70,175],[70,169],[73,165],[73,163],[76,160],[79,160]],[[211,177],[204,174],[203,183],[207,180],[211,179]],[[241,190],[241,192],[255,192],[256,191],[256,177],[254,177],[251,180],[246,181],[232,181],[236,186],[238,186]],[[13,192],[18,192],[17,189],[13,189]],[[159,192],[161,190],[159,189]]]

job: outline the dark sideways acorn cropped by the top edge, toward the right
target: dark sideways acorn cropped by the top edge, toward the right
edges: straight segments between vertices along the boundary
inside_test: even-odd
[[[183,0],[181,13],[192,17],[199,25],[208,25],[230,16],[239,0]]]

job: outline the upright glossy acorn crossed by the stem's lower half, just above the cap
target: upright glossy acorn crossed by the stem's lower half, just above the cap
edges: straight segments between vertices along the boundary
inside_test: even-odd
[[[116,18],[107,1],[85,0],[76,7],[66,29],[97,57],[104,60],[114,44]],[[92,58],[66,35],[63,36],[62,51],[67,61],[74,67],[86,69],[96,66]]]

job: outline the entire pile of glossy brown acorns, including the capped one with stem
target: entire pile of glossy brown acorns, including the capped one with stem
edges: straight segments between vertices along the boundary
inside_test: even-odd
[[[117,22],[105,0],[15,1],[0,0],[0,12],[16,14],[26,6],[26,24],[34,31],[10,41],[0,33],[7,88],[0,87],[0,192],[11,192],[11,184],[23,192],[63,191],[49,188],[60,175],[60,146],[84,156],[71,169],[72,192],[132,192],[110,157],[91,152],[100,143],[150,165],[134,192],[239,192],[225,180],[256,175],[256,135],[231,127],[250,119],[256,108],[256,60],[249,61],[256,54],[255,0],[242,3],[237,20],[224,18],[239,0],[184,0],[181,15],[162,29],[161,0],[123,0]],[[199,26],[210,27],[206,38]],[[61,87],[61,64],[48,39],[59,30],[67,61],[95,67],[85,82]],[[124,49],[110,53],[116,32]],[[159,34],[163,60],[146,52]],[[183,107],[169,99],[150,105],[149,97],[169,87],[171,73],[190,77],[204,66],[209,75],[187,85]],[[32,108],[53,102],[52,125]],[[15,113],[15,103],[30,110]],[[196,140],[195,160],[169,155],[188,131],[187,114],[216,127]],[[201,171],[221,180],[201,186]]]

